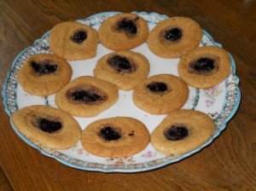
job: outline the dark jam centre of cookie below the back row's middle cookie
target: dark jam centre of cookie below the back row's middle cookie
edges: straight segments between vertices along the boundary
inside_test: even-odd
[[[108,65],[118,72],[131,72],[134,67],[126,57],[120,55],[113,55],[108,59]]]

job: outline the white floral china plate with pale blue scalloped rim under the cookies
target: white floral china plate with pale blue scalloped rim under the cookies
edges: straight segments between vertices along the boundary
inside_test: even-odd
[[[161,20],[168,18],[166,15],[157,13],[145,13],[145,12],[132,12],[139,14],[147,22],[149,30],[151,30]],[[77,20],[88,26],[92,26],[96,30],[101,26],[102,21],[108,19],[108,17],[119,12],[107,12],[101,14],[95,14],[84,20]],[[215,45],[221,47],[221,44],[215,43],[212,37],[203,30],[203,38],[201,39],[200,46]],[[154,55],[147,46],[147,43],[143,43],[136,49],[132,49],[135,52],[142,53],[148,58],[150,62],[149,76],[159,73],[171,73],[178,76],[177,74],[177,63],[179,59],[163,59]],[[90,75],[93,76],[93,69],[96,66],[96,61],[112,52],[98,43],[97,54],[95,58],[84,60],[84,61],[69,61],[73,68],[73,78],[79,76]],[[24,49],[16,56],[15,61],[11,70],[8,72],[5,84],[3,86],[3,104],[5,111],[9,114],[10,118],[15,111],[22,107],[31,106],[35,104],[48,105],[51,107],[55,106],[55,95],[48,97],[32,96],[24,91],[18,80],[17,72],[20,70],[26,59],[34,54],[38,53],[51,53],[49,49],[49,32],[46,32],[42,38],[33,43],[31,47]],[[230,54],[229,54],[230,55]],[[142,152],[125,158],[102,158],[96,157],[90,153],[87,153],[82,148],[81,143],[78,142],[73,148],[66,150],[53,150],[48,148],[39,148],[34,143],[28,141],[25,136],[22,136],[20,132],[12,124],[13,129],[20,138],[32,146],[38,149],[41,153],[49,156],[53,159],[58,160],[64,165],[71,166],[73,168],[81,169],[84,171],[103,171],[103,172],[138,172],[138,171],[149,171],[159,168],[164,165],[170,165],[181,159],[187,158],[190,155],[201,151],[201,149],[207,147],[213,140],[225,129],[227,123],[234,116],[237,108],[241,101],[241,92],[239,90],[239,78],[236,77],[236,64],[232,56],[230,75],[222,83],[212,87],[208,90],[200,90],[189,87],[189,100],[183,106],[187,109],[199,110],[203,113],[207,113],[216,124],[216,131],[214,135],[201,147],[196,148],[189,153],[183,155],[165,155],[154,150],[152,145],[149,143],[148,147]],[[125,91],[119,90],[119,101],[110,107],[105,112],[99,114],[94,118],[78,118],[75,119],[79,122],[82,130],[95,121],[96,119],[104,119],[116,116],[126,116],[141,120],[148,127],[151,133],[154,128],[160,124],[160,121],[166,117],[166,115],[152,115],[143,112],[137,108],[131,99],[132,90]]]

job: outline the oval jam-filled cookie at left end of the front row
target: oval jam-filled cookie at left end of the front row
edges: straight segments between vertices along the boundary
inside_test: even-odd
[[[72,148],[81,137],[78,122],[55,107],[23,107],[12,115],[12,122],[23,136],[40,148]]]

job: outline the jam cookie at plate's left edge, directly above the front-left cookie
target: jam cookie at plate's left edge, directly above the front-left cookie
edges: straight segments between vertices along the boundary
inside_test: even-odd
[[[69,63],[61,57],[38,54],[26,60],[17,78],[26,92],[35,96],[49,96],[61,90],[72,74]]]

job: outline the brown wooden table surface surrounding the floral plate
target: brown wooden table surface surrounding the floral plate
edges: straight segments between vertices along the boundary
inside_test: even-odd
[[[241,105],[226,130],[200,153],[141,173],[79,171],[28,146],[0,107],[0,165],[15,190],[255,190],[256,2],[253,0],[0,1],[0,84],[12,61],[55,24],[106,11],[158,12],[197,20],[236,61]],[[1,103],[3,98],[1,97]],[[3,176],[0,176],[3,177]],[[6,179],[4,179],[6,180]],[[1,181],[0,181],[1,182]],[[8,182],[6,182],[8,184]],[[2,187],[10,188],[10,187]],[[10,188],[11,189],[11,188]]]

